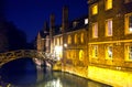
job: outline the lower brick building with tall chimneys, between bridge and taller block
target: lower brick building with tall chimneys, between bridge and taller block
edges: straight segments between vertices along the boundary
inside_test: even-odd
[[[68,21],[68,8],[63,8],[62,25],[54,26],[54,15],[51,17],[51,35],[53,53],[62,61],[65,70],[70,67],[79,66],[87,67],[87,31],[88,31],[88,15]],[[54,26],[54,28],[53,28]],[[54,34],[53,34],[54,32]],[[51,44],[52,44],[51,43]],[[51,47],[52,48],[52,47]],[[70,66],[69,68],[67,66]],[[62,68],[64,69],[64,68]]]

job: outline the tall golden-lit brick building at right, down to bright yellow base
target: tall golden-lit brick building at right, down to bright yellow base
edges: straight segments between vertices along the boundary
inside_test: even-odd
[[[88,0],[88,77],[131,87],[132,0]]]

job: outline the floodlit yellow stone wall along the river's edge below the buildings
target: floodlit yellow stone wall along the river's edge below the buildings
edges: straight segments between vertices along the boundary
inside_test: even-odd
[[[122,72],[97,66],[56,65],[54,70],[62,70],[113,87],[132,87],[132,72]]]

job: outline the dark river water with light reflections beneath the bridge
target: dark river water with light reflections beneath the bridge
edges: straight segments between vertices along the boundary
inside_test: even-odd
[[[21,58],[0,69],[0,87],[111,87],[68,73],[36,66],[31,58]]]

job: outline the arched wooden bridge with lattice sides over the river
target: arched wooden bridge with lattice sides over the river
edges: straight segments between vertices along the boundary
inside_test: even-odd
[[[55,57],[52,57],[51,54],[45,52],[38,52],[36,50],[18,50],[18,51],[0,53],[0,66],[2,66],[3,64],[10,61],[24,58],[24,57],[56,62]]]

